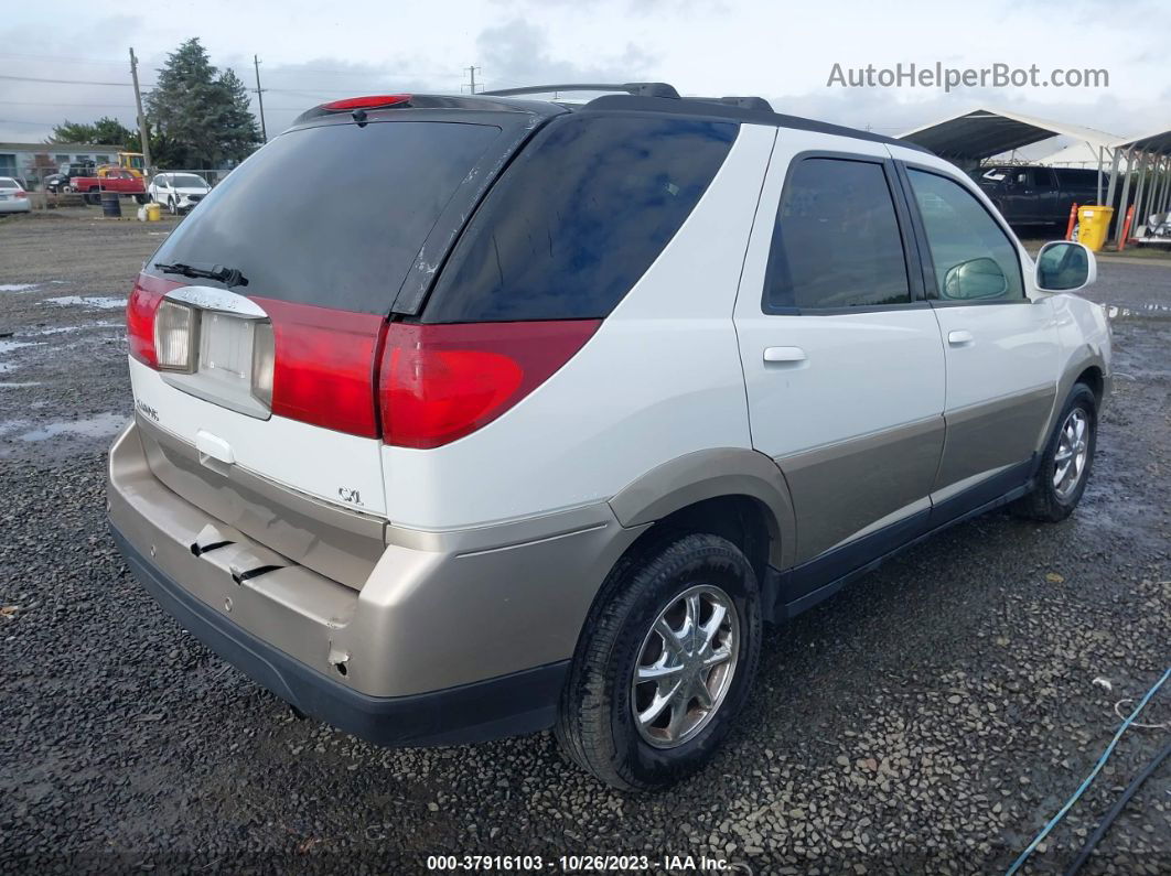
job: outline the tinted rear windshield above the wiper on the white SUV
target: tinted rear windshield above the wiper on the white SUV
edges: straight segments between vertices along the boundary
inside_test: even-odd
[[[439,213],[499,134],[445,122],[289,131],[213,188],[150,264],[222,264],[244,274],[251,296],[386,313]]]

